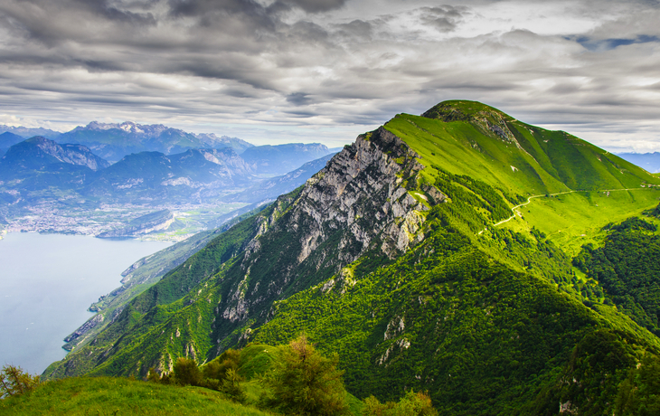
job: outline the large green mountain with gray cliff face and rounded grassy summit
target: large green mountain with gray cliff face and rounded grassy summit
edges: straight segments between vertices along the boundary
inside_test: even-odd
[[[116,309],[43,376],[144,376],[304,332],[338,353],[358,398],[414,389],[440,414],[612,414],[660,339],[572,259],[609,222],[655,208],[658,186],[474,101],[400,114]],[[651,225],[635,232],[657,222],[638,221]]]

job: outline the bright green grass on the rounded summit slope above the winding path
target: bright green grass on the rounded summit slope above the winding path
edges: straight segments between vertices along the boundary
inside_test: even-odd
[[[656,176],[636,165],[562,131],[526,125],[480,103],[460,102],[457,107],[466,113],[474,107],[505,120],[517,144],[476,119],[444,122],[399,114],[384,127],[420,154],[425,166],[421,175],[431,183],[437,165],[525,196],[660,184]]]

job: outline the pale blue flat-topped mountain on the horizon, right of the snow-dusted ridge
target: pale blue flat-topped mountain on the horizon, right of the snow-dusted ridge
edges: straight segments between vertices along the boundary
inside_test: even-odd
[[[246,149],[240,156],[261,175],[285,175],[300,165],[334,153],[318,143],[257,146]]]

